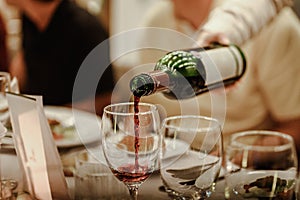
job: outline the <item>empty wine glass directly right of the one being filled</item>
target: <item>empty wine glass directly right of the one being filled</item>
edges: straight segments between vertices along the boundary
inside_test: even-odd
[[[206,199],[222,166],[222,132],[216,119],[181,115],[162,126],[160,173],[172,199]]]

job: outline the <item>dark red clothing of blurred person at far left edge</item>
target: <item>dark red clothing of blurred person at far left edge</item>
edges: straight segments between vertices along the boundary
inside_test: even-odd
[[[8,51],[6,46],[6,26],[0,15],[0,71],[8,70]]]

